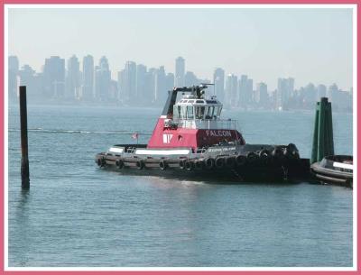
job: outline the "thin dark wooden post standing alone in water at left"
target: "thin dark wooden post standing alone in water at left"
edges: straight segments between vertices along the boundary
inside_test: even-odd
[[[26,109],[26,86],[19,87],[20,101],[20,133],[22,143],[22,188],[30,188],[29,157],[28,157],[28,119]]]

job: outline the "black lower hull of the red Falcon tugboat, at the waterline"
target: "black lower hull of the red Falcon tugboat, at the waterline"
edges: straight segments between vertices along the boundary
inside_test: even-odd
[[[101,169],[116,170],[125,174],[143,176],[162,176],[175,179],[218,179],[220,182],[233,180],[244,181],[277,181],[307,180],[310,178],[310,160],[282,160],[263,161],[261,159],[236,161],[234,156],[231,160],[227,157],[216,159],[207,157],[204,159],[143,159],[142,169],[139,169],[139,158],[125,158],[109,156],[106,153],[99,153],[96,162],[104,163],[99,166]],[[123,163],[122,167],[116,163]]]

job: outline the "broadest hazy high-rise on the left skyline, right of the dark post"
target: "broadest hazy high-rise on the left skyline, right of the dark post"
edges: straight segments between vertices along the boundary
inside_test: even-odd
[[[43,90],[46,97],[64,98],[65,60],[51,56],[43,67]]]

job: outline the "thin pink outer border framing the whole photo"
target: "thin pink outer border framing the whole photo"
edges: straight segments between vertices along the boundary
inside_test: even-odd
[[[0,14],[1,14],[1,21],[3,23],[3,27],[1,27],[1,50],[2,54],[0,55],[0,62],[2,63],[1,69],[0,69],[0,83],[1,87],[3,87],[3,93],[0,95],[0,105],[1,105],[1,119],[0,119],[0,127],[3,129],[1,132],[2,141],[0,144],[0,154],[2,156],[2,165],[0,165],[0,177],[1,177],[1,185],[0,185],[0,197],[2,199],[2,205],[1,205],[1,211],[0,211],[0,273],[1,274],[17,274],[17,275],[25,275],[25,274],[36,274],[36,273],[42,273],[42,274],[54,274],[54,275],[60,275],[63,273],[69,273],[69,274],[77,274],[77,275],[83,275],[88,273],[97,273],[97,274],[115,274],[115,273],[129,273],[133,275],[140,275],[140,274],[180,274],[180,273],[187,273],[190,275],[197,274],[197,275],[206,275],[209,273],[212,274],[225,274],[225,273],[233,273],[233,274],[245,274],[245,273],[251,273],[253,275],[258,274],[310,274],[310,273],[316,273],[319,275],[326,275],[326,274],[332,274],[332,275],[338,275],[338,274],[345,274],[345,273],[353,273],[353,274],[361,274],[361,253],[360,253],[360,244],[361,240],[359,237],[360,233],[360,225],[361,225],[361,211],[359,209],[359,206],[357,206],[357,247],[356,247],[356,253],[357,253],[357,259],[356,259],[356,271],[183,271],[183,270],[177,270],[177,271],[132,271],[132,270],[125,270],[125,271],[5,271],[5,5],[16,5],[16,4],[267,4],[267,5],[276,5],[276,4],[290,4],[290,5],[297,5],[297,4],[311,4],[311,5],[321,5],[321,4],[349,4],[349,5],[356,5],[356,13],[357,13],[357,32],[356,32],[356,52],[357,52],[357,60],[356,60],[356,69],[357,69],[357,83],[360,83],[360,55],[359,55],[359,47],[361,45],[361,39],[359,35],[360,28],[360,14],[361,14],[361,0],[1,0],[1,6],[0,6]],[[355,60],[355,57],[354,57]],[[359,96],[358,91],[354,89],[354,93],[357,93],[357,109],[356,109],[356,115],[359,118],[361,115],[361,111],[359,106],[361,105],[361,96]],[[360,129],[361,129],[361,119],[357,120],[357,144],[359,144],[358,141],[360,141]],[[355,131],[356,129],[354,129]],[[357,146],[357,156],[360,155],[361,147]],[[357,161],[357,171],[360,170],[361,167],[361,161]],[[360,197],[360,188],[359,188],[359,180],[356,182],[357,185],[357,194],[356,197]],[[354,194],[355,196],[355,194]],[[358,204],[357,204],[358,205]]]

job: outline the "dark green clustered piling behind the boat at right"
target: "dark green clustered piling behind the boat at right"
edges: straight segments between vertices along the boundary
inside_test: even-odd
[[[316,105],[315,128],[310,162],[318,162],[325,156],[330,156],[334,153],[332,107],[327,97],[321,97]]]

